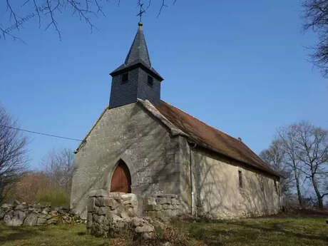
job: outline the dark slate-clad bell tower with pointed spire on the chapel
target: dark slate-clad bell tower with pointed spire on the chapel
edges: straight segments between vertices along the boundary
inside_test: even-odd
[[[160,103],[160,83],[163,78],[151,66],[141,21],[125,62],[111,72],[111,76],[110,108],[134,103],[137,98],[147,99],[153,104]]]

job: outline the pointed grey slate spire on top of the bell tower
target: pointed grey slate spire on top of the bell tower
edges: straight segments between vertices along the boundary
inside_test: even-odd
[[[145,36],[143,36],[143,23],[140,21],[138,26],[137,34],[135,34],[128,56],[125,58],[125,66],[135,62],[143,62],[145,66],[151,68],[148,48],[145,43]]]

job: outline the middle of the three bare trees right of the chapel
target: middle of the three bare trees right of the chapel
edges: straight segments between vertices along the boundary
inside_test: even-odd
[[[285,150],[286,164],[292,169],[293,178],[296,183],[297,198],[299,205],[303,207],[300,178],[302,175],[302,165],[299,161],[297,151],[297,131],[296,125],[289,125],[277,130],[282,146]]]

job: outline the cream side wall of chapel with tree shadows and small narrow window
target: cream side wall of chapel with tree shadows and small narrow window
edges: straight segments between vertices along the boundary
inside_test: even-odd
[[[212,218],[272,215],[280,211],[275,178],[236,161],[193,151],[195,210]],[[239,171],[242,175],[240,187]]]

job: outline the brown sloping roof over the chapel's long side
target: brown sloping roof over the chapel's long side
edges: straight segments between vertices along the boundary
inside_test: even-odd
[[[272,175],[280,176],[270,166],[257,156],[250,148],[237,138],[223,133],[210,125],[199,121],[188,113],[161,101],[155,108],[177,128],[189,135],[198,145],[213,150],[254,168],[263,170]]]

